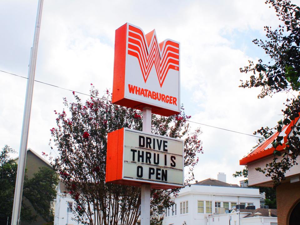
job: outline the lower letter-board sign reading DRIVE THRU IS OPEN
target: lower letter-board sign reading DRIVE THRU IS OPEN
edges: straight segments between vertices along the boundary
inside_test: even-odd
[[[108,133],[106,182],[183,187],[183,140],[121,128]]]

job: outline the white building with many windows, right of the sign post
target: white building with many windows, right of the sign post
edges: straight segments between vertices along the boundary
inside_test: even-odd
[[[184,187],[178,197],[172,199],[175,204],[165,209],[163,225],[206,225],[209,215],[229,213],[236,205],[260,207],[262,195],[258,188],[226,183],[224,173],[219,173],[218,179],[209,178]]]

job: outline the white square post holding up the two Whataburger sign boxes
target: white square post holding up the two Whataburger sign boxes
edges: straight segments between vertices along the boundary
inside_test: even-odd
[[[151,133],[151,108],[143,108],[143,132]],[[150,224],[150,184],[143,184],[141,188],[141,225]]]

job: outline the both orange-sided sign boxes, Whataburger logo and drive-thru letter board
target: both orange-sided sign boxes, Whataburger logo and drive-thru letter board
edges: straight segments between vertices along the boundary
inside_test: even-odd
[[[180,44],[158,43],[125,23],[116,30],[113,103],[171,116],[180,112]],[[151,124],[147,126],[151,127]],[[108,133],[106,182],[168,189],[184,184],[183,140],[122,128]]]

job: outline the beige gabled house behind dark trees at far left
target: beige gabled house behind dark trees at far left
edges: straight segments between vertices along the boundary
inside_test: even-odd
[[[19,157],[15,158],[14,161],[16,163],[18,163]],[[37,173],[39,171],[39,168],[42,168],[42,167],[52,168],[51,164],[46,159],[44,159],[42,156],[40,156],[39,154],[34,152],[31,148],[28,148],[27,154],[26,154],[26,163],[25,163],[25,169],[27,170],[26,171],[27,177],[29,179],[32,178],[33,174]],[[25,202],[27,203],[27,205],[30,205],[30,202],[26,201],[26,199],[25,199]],[[37,215],[36,222],[34,222],[33,224],[34,225],[45,224],[46,221],[40,215],[38,215],[37,212],[35,212],[33,207],[31,207],[31,208],[32,208],[32,214]],[[32,223],[26,223],[26,222],[22,221],[22,224],[29,225]]]

